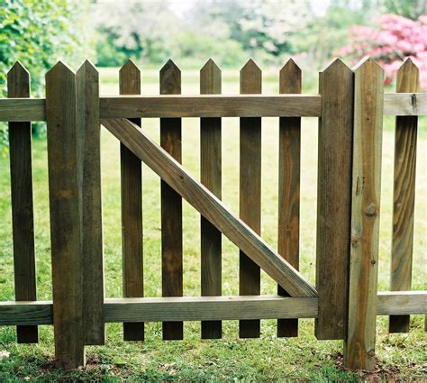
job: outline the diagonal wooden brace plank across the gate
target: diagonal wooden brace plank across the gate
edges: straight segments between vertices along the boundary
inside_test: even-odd
[[[246,223],[232,214],[145,132],[126,119],[105,119],[101,123],[230,241],[257,262],[291,296],[317,295],[316,289],[301,273],[273,251]]]

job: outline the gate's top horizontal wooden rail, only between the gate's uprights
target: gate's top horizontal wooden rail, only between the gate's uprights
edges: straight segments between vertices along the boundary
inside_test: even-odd
[[[278,117],[321,114],[319,95],[102,97],[101,117]]]

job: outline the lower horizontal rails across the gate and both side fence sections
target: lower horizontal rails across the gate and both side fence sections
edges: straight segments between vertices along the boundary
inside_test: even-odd
[[[106,298],[105,323],[315,318],[318,299],[285,296]],[[131,307],[131,310],[129,308]],[[152,308],[155,307],[155,311]],[[379,292],[377,315],[427,314],[427,291]],[[178,316],[179,315],[179,316]],[[53,324],[52,302],[0,302],[0,325]]]

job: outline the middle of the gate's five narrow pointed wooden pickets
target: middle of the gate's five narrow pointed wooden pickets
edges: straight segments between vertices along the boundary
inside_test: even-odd
[[[210,59],[200,70],[200,93],[221,93],[221,70]],[[221,198],[221,118],[200,119],[200,178],[215,196]],[[201,217],[202,296],[221,296],[221,232]],[[202,338],[222,336],[221,321],[202,322]]]

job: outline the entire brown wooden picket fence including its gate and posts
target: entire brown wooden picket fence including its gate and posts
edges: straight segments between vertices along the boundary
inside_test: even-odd
[[[57,365],[85,364],[85,345],[104,344],[104,324],[123,323],[126,341],[143,341],[144,322],[162,322],[165,340],[183,339],[184,321],[202,321],[202,338],[221,338],[223,320],[240,320],[242,338],[259,320],[277,319],[277,336],[297,336],[297,318],[315,318],[320,340],[345,341],[350,369],[375,363],[377,315],[407,332],[409,315],[427,314],[427,292],[411,290],[417,116],[427,114],[418,69],[407,59],[396,93],[384,93],[372,59],[340,59],[320,73],[320,92],[301,94],[301,70],[280,70],[279,95],[261,95],[261,71],[241,69],[241,95],[221,95],[209,60],[200,93],[181,96],[180,70],[160,71],[160,96],[141,96],[140,70],[120,70],[121,96],[99,96],[96,68],[75,74],[59,62],[46,74],[46,98],[30,98],[20,63],[8,73],[0,121],[9,122],[14,233],[14,302],[0,303],[0,325],[18,342],[38,342],[53,324]],[[395,115],[395,196],[391,292],[377,293],[383,114]],[[301,117],[319,117],[316,286],[298,269]],[[181,118],[200,118],[201,176],[181,162]],[[221,117],[240,117],[240,216],[221,202]],[[278,117],[277,251],[260,238],[261,118]],[[141,118],[160,118],[160,146]],[[37,301],[32,208],[32,121],[48,126],[53,300]],[[121,141],[123,298],[104,298],[100,127]],[[144,297],[141,161],[161,181],[162,297]],[[183,296],[182,198],[202,215],[198,297]],[[222,233],[240,249],[239,296],[222,296]],[[260,296],[260,269],[277,296]]]

